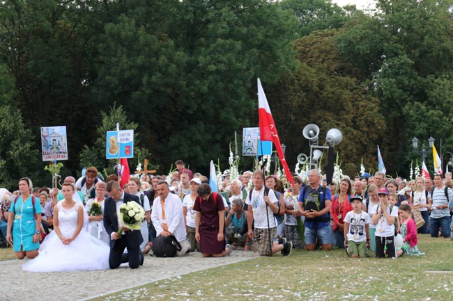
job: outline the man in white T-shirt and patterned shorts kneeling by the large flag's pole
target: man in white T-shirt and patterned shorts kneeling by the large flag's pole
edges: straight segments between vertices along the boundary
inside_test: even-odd
[[[256,170],[252,180],[254,189],[249,191],[245,201],[248,205],[247,225],[249,238],[254,239],[256,250],[261,256],[270,256],[279,251],[282,251],[283,256],[287,256],[291,254],[293,243],[286,243],[282,240],[277,241],[277,220],[274,217],[274,213],[277,213],[279,208],[274,190],[269,189],[266,195],[262,170]],[[253,221],[255,229],[252,229]],[[272,241],[272,253],[270,252],[269,236]]]

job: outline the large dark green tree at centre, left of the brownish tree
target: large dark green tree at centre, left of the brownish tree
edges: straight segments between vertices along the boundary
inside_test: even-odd
[[[294,17],[261,0],[169,1],[156,9],[172,22],[160,26],[146,1],[129,4],[100,37],[96,106],[123,105],[161,165],[181,158],[207,172],[210,159],[226,162],[256,107],[256,77],[295,70]]]

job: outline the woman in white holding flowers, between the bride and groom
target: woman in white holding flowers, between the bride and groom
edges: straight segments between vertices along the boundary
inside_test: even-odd
[[[105,231],[104,223],[102,222],[104,214],[105,193],[107,193],[107,184],[98,181],[95,184],[96,196],[94,199],[88,200],[85,205],[85,211],[89,215],[89,230],[90,234],[95,238],[99,238],[104,243],[110,243],[110,236]]]

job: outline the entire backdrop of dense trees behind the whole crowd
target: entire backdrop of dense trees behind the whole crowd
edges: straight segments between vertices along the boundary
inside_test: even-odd
[[[43,185],[40,127],[67,127],[63,175],[109,173],[104,132],[120,122],[135,129],[132,170],[140,152],[161,173],[176,159],[206,173],[211,159],[227,165],[234,131],[258,124],[259,77],[291,169],[313,122],[343,131],[345,172],[361,158],[376,170],[380,145],[390,174],[408,175],[413,136],[453,147],[452,2],[379,0],[366,15],[330,0],[6,0],[0,106],[20,130],[2,128],[2,143],[29,143],[17,154]],[[25,165],[0,154],[11,185]]]

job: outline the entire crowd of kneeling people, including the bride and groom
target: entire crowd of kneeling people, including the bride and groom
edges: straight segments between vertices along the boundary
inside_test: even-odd
[[[0,190],[0,239],[18,259],[33,259],[24,270],[47,272],[139,268],[146,254],[224,257],[236,249],[263,256],[332,247],[350,257],[422,255],[418,234],[450,238],[453,228],[449,172],[413,181],[364,173],[336,183],[309,170],[306,182],[294,174],[291,184],[256,170],[236,179],[224,174],[216,192],[183,161],[176,167],[168,176],[130,177],[123,187],[116,174],[103,179],[94,167],[77,181],[66,177],[61,190],[33,188],[22,178],[18,190]],[[132,201],[144,210],[140,229],[118,223],[121,205]]]

